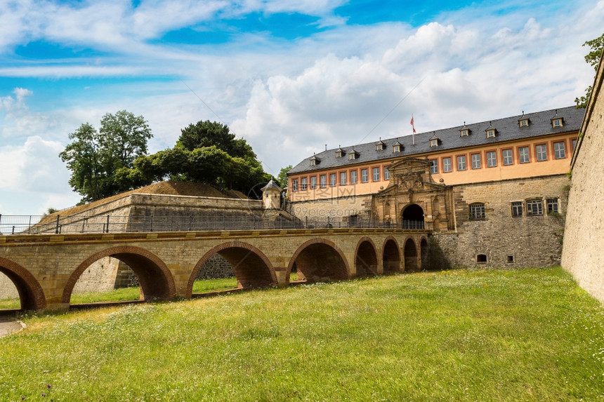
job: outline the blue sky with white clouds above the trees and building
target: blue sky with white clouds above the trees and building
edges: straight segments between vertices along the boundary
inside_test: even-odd
[[[0,1],[0,215],[74,206],[58,154],[126,109],[149,152],[221,121],[265,171],[574,105],[603,1]]]

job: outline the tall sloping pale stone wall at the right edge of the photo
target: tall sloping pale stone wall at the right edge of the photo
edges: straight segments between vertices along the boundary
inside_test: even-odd
[[[604,65],[593,84],[575,156],[562,266],[579,286],[604,302]]]

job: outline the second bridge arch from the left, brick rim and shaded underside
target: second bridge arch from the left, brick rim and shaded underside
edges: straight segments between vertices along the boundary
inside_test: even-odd
[[[74,286],[86,269],[95,261],[103,257],[114,257],[127,264],[138,276],[140,290],[143,292],[145,300],[162,299],[169,300],[176,295],[176,286],[174,279],[166,264],[148,250],[134,246],[117,246],[105,248],[98,253],[94,253],[79,264],[74,272],[67,279],[65,289],[63,289],[62,302],[70,302]]]

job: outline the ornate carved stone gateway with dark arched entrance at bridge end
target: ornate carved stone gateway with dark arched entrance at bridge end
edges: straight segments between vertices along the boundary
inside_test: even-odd
[[[428,159],[405,158],[388,170],[388,187],[374,196],[378,219],[409,229],[454,230],[452,187],[434,182]]]

